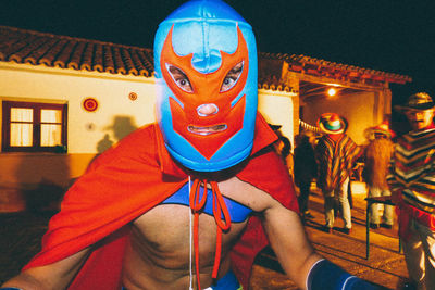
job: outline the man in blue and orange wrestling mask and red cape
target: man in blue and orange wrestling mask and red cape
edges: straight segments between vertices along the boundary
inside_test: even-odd
[[[371,289],[307,240],[276,135],[257,112],[251,26],[223,1],[189,1],[159,26],[154,68],[157,124],[91,164],[42,251],[3,287],[248,289],[270,242],[302,289]]]

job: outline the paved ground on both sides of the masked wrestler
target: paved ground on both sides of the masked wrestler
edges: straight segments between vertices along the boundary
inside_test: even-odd
[[[325,257],[351,274],[368,279],[385,289],[401,289],[408,278],[402,254],[398,253],[397,228],[370,232],[370,259],[365,260],[365,202],[363,196],[353,197],[353,229],[340,232],[343,220],[336,222],[333,234],[322,230],[323,199],[311,197],[314,218],[306,225],[314,248]],[[39,250],[40,237],[46,230],[49,213],[0,214],[0,282],[15,275]],[[288,290],[296,286],[279,272],[273,253],[265,250],[257,260],[251,286],[253,290]]]

